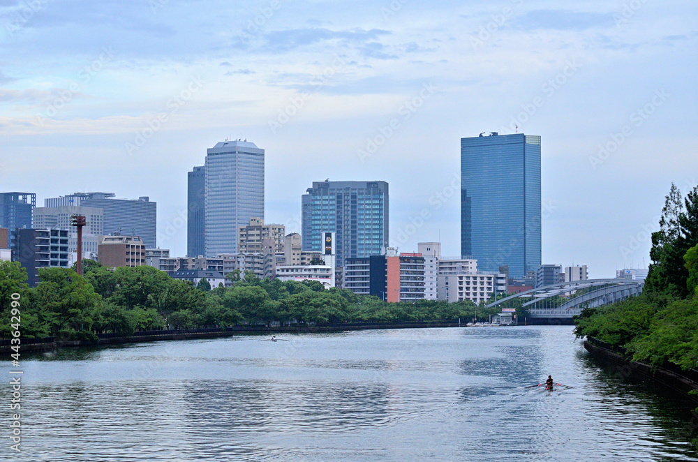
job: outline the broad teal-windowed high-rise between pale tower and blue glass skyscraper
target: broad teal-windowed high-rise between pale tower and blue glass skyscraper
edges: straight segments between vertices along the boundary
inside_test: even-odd
[[[313,181],[302,196],[303,250],[322,251],[322,233],[336,233],[337,266],[380,255],[388,245],[385,181]]]

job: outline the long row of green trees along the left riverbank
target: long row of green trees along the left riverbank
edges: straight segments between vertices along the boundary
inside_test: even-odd
[[[158,329],[434,322],[475,315],[487,320],[498,312],[470,301],[389,304],[346,289],[325,290],[317,281],[260,279],[251,271],[230,275],[228,288],[211,288],[205,280],[194,286],[147,266],[107,269],[92,260],[84,261],[84,276],[66,268],[39,269],[39,276],[41,282],[29,288],[17,262],[0,262],[0,338],[10,338],[13,294],[20,297],[22,338],[56,341]]]

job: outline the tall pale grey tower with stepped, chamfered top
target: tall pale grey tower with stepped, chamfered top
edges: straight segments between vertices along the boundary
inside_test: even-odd
[[[237,253],[237,228],[264,220],[264,149],[233,140],[207,149],[205,255]]]

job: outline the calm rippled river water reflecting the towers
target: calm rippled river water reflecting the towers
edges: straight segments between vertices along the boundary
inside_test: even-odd
[[[683,403],[572,327],[266,338],[24,355],[22,452],[3,425],[0,460],[698,461]],[[549,374],[574,388],[525,388]]]

